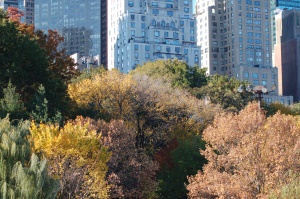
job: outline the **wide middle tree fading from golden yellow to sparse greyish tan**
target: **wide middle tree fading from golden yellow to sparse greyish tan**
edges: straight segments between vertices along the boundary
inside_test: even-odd
[[[171,140],[176,129],[186,135],[200,133],[218,110],[159,80],[116,70],[69,85],[69,94],[80,107],[98,110],[106,119],[124,120],[135,129],[136,146],[151,150]]]

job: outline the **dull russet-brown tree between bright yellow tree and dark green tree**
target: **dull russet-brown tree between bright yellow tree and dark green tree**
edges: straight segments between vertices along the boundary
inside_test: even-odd
[[[135,147],[135,131],[116,120],[93,121],[89,126],[101,133],[101,142],[111,153],[106,175],[110,198],[154,198],[158,165]]]

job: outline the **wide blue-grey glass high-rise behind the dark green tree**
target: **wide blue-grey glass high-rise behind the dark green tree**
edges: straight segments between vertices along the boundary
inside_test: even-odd
[[[106,63],[107,0],[35,0],[35,26],[56,29],[69,55],[100,57]]]

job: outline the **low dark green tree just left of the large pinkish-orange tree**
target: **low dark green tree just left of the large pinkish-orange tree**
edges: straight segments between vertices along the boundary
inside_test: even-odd
[[[172,143],[174,148],[172,148]],[[176,142],[175,142],[176,143]],[[187,198],[185,185],[188,184],[187,176],[197,174],[198,170],[206,163],[206,159],[199,153],[204,150],[205,142],[199,136],[191,136],[185,140],[174,141],[156,154],[160,160],[161,169],[157,178],[159,181],[158,195],[160,198]],[[167,153],[166,153],[167,152]]]

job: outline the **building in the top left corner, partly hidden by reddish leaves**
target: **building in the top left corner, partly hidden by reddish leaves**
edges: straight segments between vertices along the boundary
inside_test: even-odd
[[[34,0],[0,0],[0,8],[7,10],[8,7],[16,7],[23,12],[22,22],[34,23]]]

